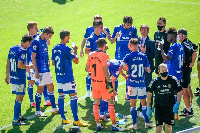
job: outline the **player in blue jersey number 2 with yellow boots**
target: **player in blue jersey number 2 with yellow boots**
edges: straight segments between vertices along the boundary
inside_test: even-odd
[[[78,97],[77,97],[77,89],[76,83],[74,81],[73,70],[72,70],[72,61],[75,64],[79,63],[79,59],[77,56],[78,47],[75,46],[74,52],[66,43],[69,43],[70,32],[67,30],[60,31],[60,39],[61,42],[57,44],[52,49],[52,64],[55,66],[57,87],[58,87],[58,107],[60,111],[60,115],[62,118],[63,124],[71,123],[70,120],[66,119],[64,115],[64,99],[65,94],[69,94],[70,96],[70,106],[72,110],[72,114],[74,116],[74,125],[76,126],[88,126],[87,124],[81,122],[78,118]]]

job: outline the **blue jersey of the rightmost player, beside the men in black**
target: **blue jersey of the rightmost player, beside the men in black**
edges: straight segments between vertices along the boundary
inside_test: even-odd
[[[178,42],[173,43],[167,54],[172,57],[167,62],[169,75],[175,76],[178,80],[181,80],[183,58],[185,57],[184,47]]]

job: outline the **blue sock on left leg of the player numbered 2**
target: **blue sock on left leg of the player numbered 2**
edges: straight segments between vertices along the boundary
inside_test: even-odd
[[[59,95],[58,108],[59,108],[59,111],[60,111],[61,118],[63,120],[66,120],[66,117],[65,117],[65,114],[64,114],[64,100],[65,100],[65,94]]]

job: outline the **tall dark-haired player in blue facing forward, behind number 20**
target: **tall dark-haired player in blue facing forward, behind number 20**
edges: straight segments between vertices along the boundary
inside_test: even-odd
[[[123,60],[126,54],[130,53],[128,43],[131,38],[137,38],[137,29],[133,24],[133,18],[131,16],[124,16],[123,24],[120,24],[114,28],[111,43],[116,42],[115,59]],[[126,85],[126,97],[127,96],[127,85]]]

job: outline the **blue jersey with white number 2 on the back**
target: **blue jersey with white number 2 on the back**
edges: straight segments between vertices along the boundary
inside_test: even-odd
[[[52,60],[55,62],[55,73],[57,83],[69,83],[74,81],[72,70],[72,59],[76,55],[72,49],[65,44],[57,44],[52,49]]]

